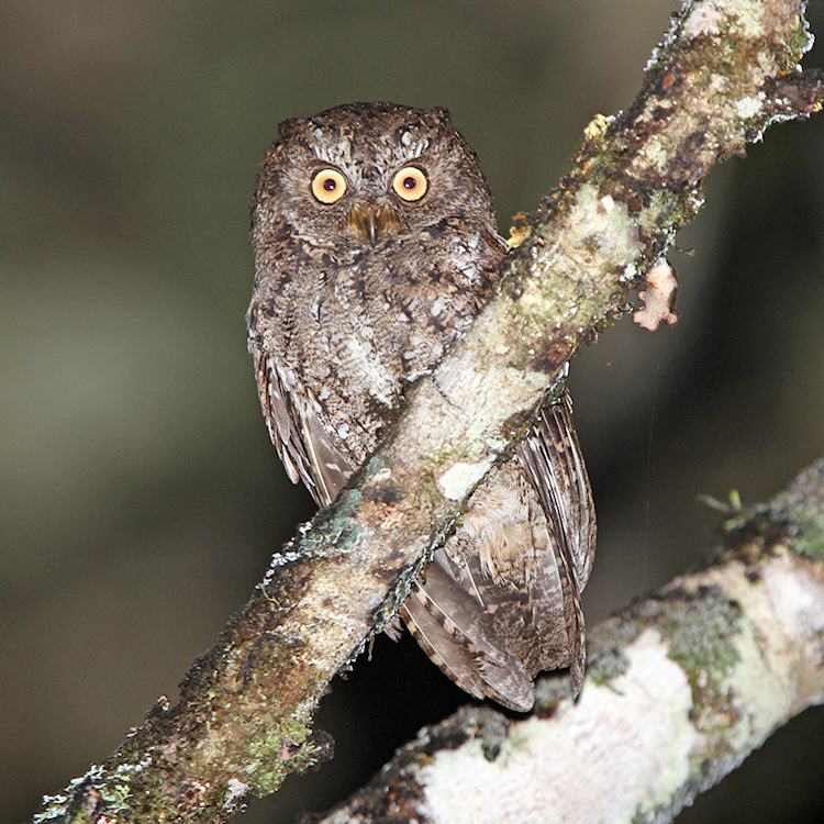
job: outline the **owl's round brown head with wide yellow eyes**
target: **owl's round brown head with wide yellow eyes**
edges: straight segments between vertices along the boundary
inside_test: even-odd
[[[252,209],[256,238],[376,248],[444,221],[494,216],[478,157],[446,109],[349,103],[287,120],[264,159]]]

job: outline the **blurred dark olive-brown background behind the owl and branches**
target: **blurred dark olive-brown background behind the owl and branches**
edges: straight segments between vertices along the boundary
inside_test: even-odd
[[[0,2],[2,822],[174,700],[312,514],[244,339],[248,200],[278,121],[446,105],[505,227],[597,112],[630,104],[676,7]],[[670,254],[680,322],[624,319],[572,364],[590,622],[705,557],[722,515],[698,494],[754,503],[824,453],[823,141],[822,115],[778,126],[713,172],[690,254]],[[461,700],[409,638],[378,638],[323,703],[335,759],[241,821],[333,804]],[[820,821],[823,735],[805,713],[680,821]]]

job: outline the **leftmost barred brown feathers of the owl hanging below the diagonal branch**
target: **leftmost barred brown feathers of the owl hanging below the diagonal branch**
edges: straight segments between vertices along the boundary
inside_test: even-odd
[[[530,673],[494,644],[489,614],[455,580],[442,555],[426,569],[401,608],[401,616],[423,650],[464,691],[527,712],[535,695]]]

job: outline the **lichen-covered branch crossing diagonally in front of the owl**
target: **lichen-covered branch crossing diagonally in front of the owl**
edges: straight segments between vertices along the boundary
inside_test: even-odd
[[[628,111],[597,119],[572,171],[519,221],[504,287],[411,393],[334,508],[103,766],[38,821],[219,822],[330,753],[312,713],[390,619],[485,472],[509,454],[579,342],[698,210],[701,181],[771,122],[817,110],[800,0],[693,0]]]

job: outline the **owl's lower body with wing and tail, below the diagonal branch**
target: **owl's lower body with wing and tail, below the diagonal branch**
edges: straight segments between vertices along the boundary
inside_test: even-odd
[[[584,665],[580,592],[594,530],[564,396],[476,490],[464,523],[401,614],[433,661],[476,698],[530,710],[534,675],[559,667],[570,668],[577,693]]]

